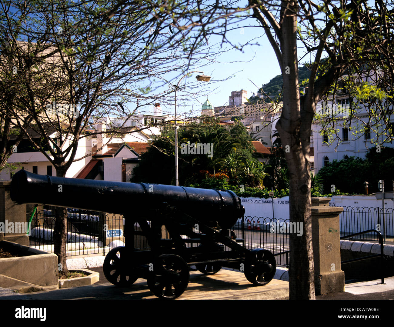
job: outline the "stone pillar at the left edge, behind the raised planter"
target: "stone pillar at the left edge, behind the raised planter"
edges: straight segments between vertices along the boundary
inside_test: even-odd
[[[0,182],[0,234],[5,241],[29,245],[26,234],[26,204],[15,204],[9,197],[11,181]],[[4,231],[3,231],[4,228]]]

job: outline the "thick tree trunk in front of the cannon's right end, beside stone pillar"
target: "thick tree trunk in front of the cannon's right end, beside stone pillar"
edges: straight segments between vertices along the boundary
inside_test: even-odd
[[[289,292],[290,299],[315,299],[309,175],[312,119],[301,111],[304,101],[301,104],[298,85],[296,2],[282,1],[282,11],[283,108],[276,128],[290,177],[290,222],[302,227],[301,236],[290,233]]]

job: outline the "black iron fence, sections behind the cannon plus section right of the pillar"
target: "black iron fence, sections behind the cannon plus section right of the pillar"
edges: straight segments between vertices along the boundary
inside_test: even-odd
[[[340,214],[340,236],[356,234],[364,230],[378,229],[383,234],[385,217],[386,241],[394,241],[392,208],[343,207]],[[55,226],[54,206],[37,206],[30,225],[30,246],[54,252],[53,231]],[[28,222],[31,212],[28,213]],[[232,230],[242,239],[248,249],[268,249],[277,260],[278,266],[289,265],[289,219],[244,216],[238,219]],[[149,223],[149,222],[148,222]],[[106,214],[78,209],[67,209],[67,255],[106,255],[113,247],[125,244],[124,219],[122,215]],[[134,226],[135,249],[149,249],[145,236],[139,234],[139,226]],[[353,240],[378,241],[376,233],[366,232],[353,236]],[[188,243],[188,246],[198,246]]]

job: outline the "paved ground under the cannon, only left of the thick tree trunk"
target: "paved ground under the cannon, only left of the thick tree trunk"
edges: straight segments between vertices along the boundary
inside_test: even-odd
[[[93,268],[94,269],[94,268]],[[92,270],[93,270],[92,269]],[[102,268],[94,269],[102,274]],[[272,280],[255,287],[241,273],[222,269],[214,276],[204,276],[199,271],[190,273],[190,281],[180,299],[286,299],[288,282]],[[104,278],[96,284],[53,291],[16,295],[4,294],[0,299],[158,299],[151,293],[145,279],[138,279],[131,288],[119,288]]]

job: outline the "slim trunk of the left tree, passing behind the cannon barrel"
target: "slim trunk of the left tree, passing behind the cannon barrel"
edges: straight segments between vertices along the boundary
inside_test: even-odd
[[[66,170],[63,167],[56,167],[56,176],[65,177]],[[59,192],[59,197],[62,193]],[[53,231],[53,241],[55,245],[54,253],[58,256],[59,277],[67,275],[67,208],[56,207],[55,228]]]

